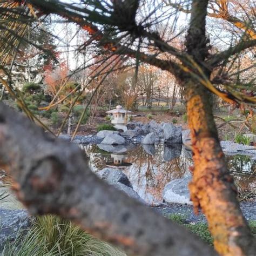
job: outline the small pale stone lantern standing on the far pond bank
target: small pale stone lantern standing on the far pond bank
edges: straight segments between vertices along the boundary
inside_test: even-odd
[[[111,123],[117,130],[126,131],[126,123],[129,121],[132,111],[123,109],[122,106],[118,105],[116,109],[106,111],[108,114],[112,114]]]

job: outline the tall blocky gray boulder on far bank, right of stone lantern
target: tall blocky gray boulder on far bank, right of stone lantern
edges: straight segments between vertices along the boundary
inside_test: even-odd
[[[174,126],[170,123],[163,125],[165,143],[182,143],[181,126]]]

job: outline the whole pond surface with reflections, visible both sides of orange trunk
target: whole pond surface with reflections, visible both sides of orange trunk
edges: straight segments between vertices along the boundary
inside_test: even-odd
[[[191,151],[182,145],[80,145],[90,158],[93,172],[105,167],[122,170],[133,189],[146,203],[163,202],[163,190],[170,181],[190,176]],[[225,156],[239,191],[239,199],[255,199],[256,161],[250,157]]]

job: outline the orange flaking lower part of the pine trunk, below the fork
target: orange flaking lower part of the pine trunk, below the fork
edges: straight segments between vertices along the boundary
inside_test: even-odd
[[[221,150],[208,100],[210,93],[193,81],[187,82],[185,87],[194,160],[190,184],[194,208],[202,208],[214,247],[221,255],[253,255],[253,237],[242,216]]]

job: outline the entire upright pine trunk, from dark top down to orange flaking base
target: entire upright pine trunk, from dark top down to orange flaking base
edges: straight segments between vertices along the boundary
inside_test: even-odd
[[[215,250],[221,255],[253,255],[253,237],[242,216],[221,150],[210,92],[192,76],[197,75],[202,80],[210,78],[210,71],[204,64],[208,56],[205,35],[207,5],[207,0],[192,2],[190,28],[185,42],[190,58],[183,63],[190,72],[180,77],[185,90],[194,160],[191,199],[195,209],[200,206],[206,215]]]

